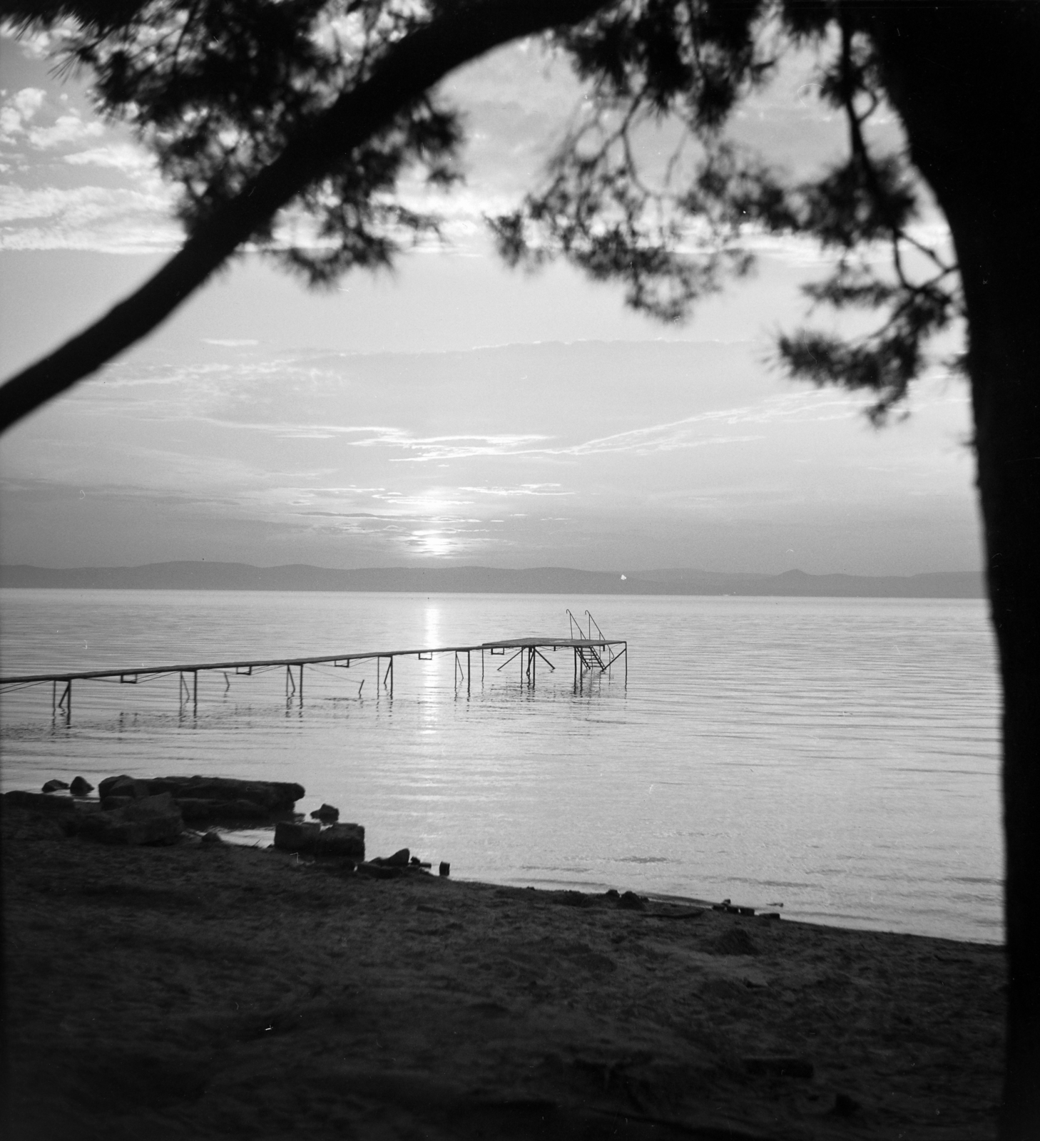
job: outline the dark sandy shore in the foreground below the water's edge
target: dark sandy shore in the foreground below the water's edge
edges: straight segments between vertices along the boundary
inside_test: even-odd
[[[999,948],[2,827],[13,1141],[995,1133]]]

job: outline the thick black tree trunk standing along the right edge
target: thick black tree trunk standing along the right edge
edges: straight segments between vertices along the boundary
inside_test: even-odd
[[[892,8],[900,6],[893,5]],[[929,6],[930,7],[930,6]],[[953,234],[990,607],[1003,682],[1009,969],[1000,1136],[1040,1138],[1040,8],[877,19],[887,86]]]

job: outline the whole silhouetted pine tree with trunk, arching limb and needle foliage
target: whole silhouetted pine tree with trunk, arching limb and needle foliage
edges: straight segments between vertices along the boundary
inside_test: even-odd
[[[564,256],[663,317],[741,274],[748,228],[835,253],[809,297],[878,315],[843,340],[782,337],[791,373],[874,394],[877,421],[962,318],[991,614],[1003,682],[1006,922],[1010,971],[1000,1134],[1040,1135],[1040,6],[897,0],[0,0],[33,24],[79,22],[68,58],[182,187],[182,250],[140,290],[0,388],[7,426],[155,327],[247,242],[315,285],[389,261],[436,219],[394,199],[400,175],[450,185],[461,141],[434,92],[454,67],[545,32],[594,87],[594,111],[546,184],[493,228],[514,262]],[[821,59],[848,154],[793,184],[726,140],[782,42]],[[903,152],[877,154],[894,107]],[[690,161],[639,160],[640,131],[678,119]],[[956,261],[913,222],[927,189]],[[315,240],[285,248],[287,208]],[[877,251],[887,249],[884,270]]]

